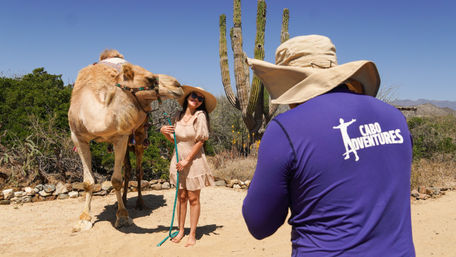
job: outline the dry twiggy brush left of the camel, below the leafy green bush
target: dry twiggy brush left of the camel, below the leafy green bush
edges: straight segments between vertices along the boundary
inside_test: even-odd
[[[55,115],[50,117],[43,121],[30,115],[25,139],[11,137],[7,147],[0,144],[0,163],[9,173],[7,183],[33,184],[53,179],[66,181],[67,176],[82,177],[82,173],[67,173],[80,170],[79,157],[73,151],[68,132],[57,128]]]

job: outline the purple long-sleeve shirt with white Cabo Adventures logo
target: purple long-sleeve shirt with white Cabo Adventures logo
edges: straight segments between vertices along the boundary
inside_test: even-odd
[[[291,210],[292,256],[415,256],[404,116],[335,89],[273,119],[242,212],[257,239]]]

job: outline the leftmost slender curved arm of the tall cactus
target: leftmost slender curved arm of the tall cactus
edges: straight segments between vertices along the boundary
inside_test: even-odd
[[[220,39],[219,39],[219,56],[220,56],[220,71],[222,75],[223,88],[225,89],[225,95],[228,101],[238,110],[241,109],[239,106],[239,100],[236,98],[233,92],[230,81],[230,68],[228,66],[228,50],[226,46],[226,16],[225,14],[220,15]]]

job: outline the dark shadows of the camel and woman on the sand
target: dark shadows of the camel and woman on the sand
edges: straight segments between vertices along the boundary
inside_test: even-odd
[[[163,198],[163,195],[143,195],[143,200],[144,204],[146,205],[146,208],[144,210],[136,210],[134,208],[136,204],[136,200],[138,197],[130,197],[127,199],[127,209],[128,209],[128,215],[130,218],[134,219],[139,218],[139,217],[145,217],[149,216],[154,210],[166,206],[166,201]],[[93,223],[95,226],[96,223],[101,222],[101,221],[108,221],[111,223],[112,227],[114,227],[114,224],[116,222],[116,211],[117,211],[117,202],[111,205],[105,206],[105,209],[103,212],[101,212],[99,215],[96,216],[96,220]],[[196,239],[201,239],[204,235],[218,235],[215,231],[219,228],[222,228],[223,226],[217,226],[215,224],[211,225],[205,225],[205,226],[198,226],[196,229]],[[126,233],[126,234],[150,234],[150,233],[156,233],[156,232],[165,232],[169,231],[169,226],[162,226],[159,225],[156,228],[142,228],[136,226],[136,224],[132,224],[131,226],[125,226],[121,228],[116,228],[118,231]],[[177,227],[173,227],[173,231],[176,231]],[[185,234],[188,235],[190,232],[190,228],[185,229]]]

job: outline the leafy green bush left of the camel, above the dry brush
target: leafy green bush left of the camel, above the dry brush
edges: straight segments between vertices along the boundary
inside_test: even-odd
[[[32,129],[31,115],[42,123],[52,119],[56,129],[68,130],[71,90],[61,75],[43,68],[21,77],[0,77],[0,130],[7,131],[2,142],[25,140]]]

